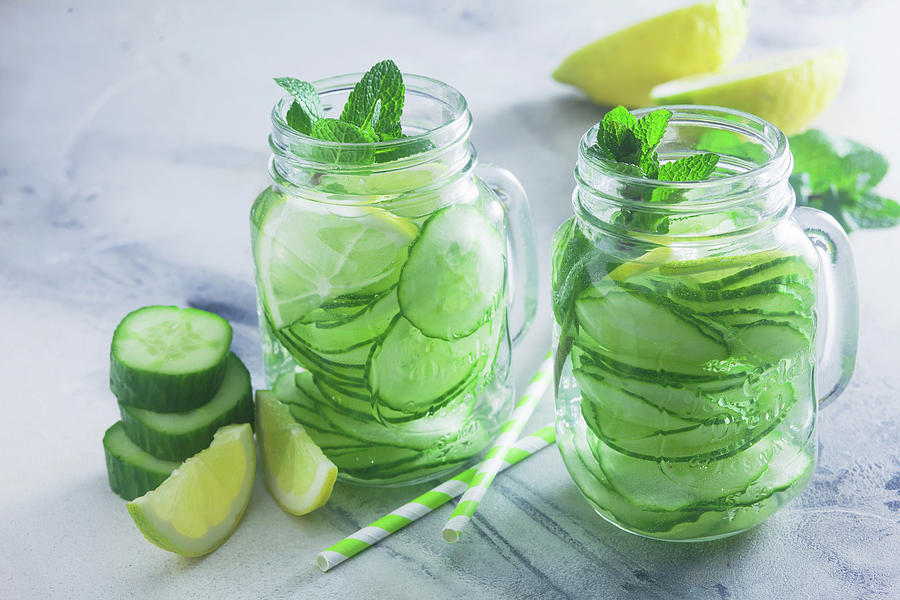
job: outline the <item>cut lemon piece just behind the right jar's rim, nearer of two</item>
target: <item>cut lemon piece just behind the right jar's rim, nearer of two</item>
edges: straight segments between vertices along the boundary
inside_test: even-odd
[[[650,93],[656,104],[735,108],[786,134],[803,130],[831,104],[847,72],[843,48],[798,50],[737,64],[718,73],[669,81]]]

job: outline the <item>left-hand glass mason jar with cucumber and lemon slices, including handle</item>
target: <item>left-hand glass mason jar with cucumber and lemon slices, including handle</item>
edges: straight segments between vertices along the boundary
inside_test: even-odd
[[[360,77],[314,83],[325,116]],[[537,295],[521,185],[476,169],[462,94],[404,82],[409,137],[394,142],[305,136],[287,126],[282,99],[273,184],[251,210],[267,384],[340,478],[370,485],[440,477],[498,433],[512,407],[511,344]]]

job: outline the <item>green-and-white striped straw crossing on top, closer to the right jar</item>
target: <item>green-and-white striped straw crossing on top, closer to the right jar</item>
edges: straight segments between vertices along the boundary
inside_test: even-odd
[[[453,543],[459,541],[460,533],[472,519],[475,509],[478,508],[478,503],[484,498],[484,494],[494,481],[494,477],[503,466],[506,454],[515,444],[519,434],[522,433],[525,423],[531,418],[531,413],[534,412],[534,407],[537,406],[538,400],[541,399],[550,386],[552,372],[553,355],[551,352],[548,352],[538,372],[534,374],[531,383],[528,384],[525,395],[519,399],[513,414],[500,429],[500,436],[488,451],[487,456],[478,468],[478,472],[469,483],[469,489],[463,493],[462,499],[456,505],[456,508],[453,509],[453,514],[450,515],[450,520],[447,521],[444,529],[441,530],[441,536],[445,542]]]

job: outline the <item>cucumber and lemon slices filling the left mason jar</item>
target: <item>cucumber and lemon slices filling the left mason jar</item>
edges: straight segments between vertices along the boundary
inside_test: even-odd
[[[419,479],[477,454],[490,433],[472,412],[506,331],[506,245],[484,209],[420,224],[267,201],[254,217],[263,333],[292,359],[274,392],[341,476]]]

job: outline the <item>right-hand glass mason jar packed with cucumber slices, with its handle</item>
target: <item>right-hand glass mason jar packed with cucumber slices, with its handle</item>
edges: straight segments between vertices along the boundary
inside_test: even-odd
[[[698,541],[809,481],[817,409],[853,372],[856,286],[840,226],[794,208],[781,131],[668,108],[660,160],[715,152],[712,179],[629,177],[592,157],[596,127],[581,140],[575,216],[553,242],[557,436],[603,518]]]

